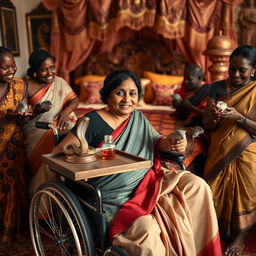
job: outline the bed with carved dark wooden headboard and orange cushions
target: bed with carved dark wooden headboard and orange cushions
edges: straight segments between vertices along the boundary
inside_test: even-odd
[[[111,52],[93,54],[72,74],[73,87],[79,92],[80,99],[76,113],[82,116],[88,111],[104,107],[99,91],[105,76],[115,69],[129,69],[141,79],[143,99],[138,109],[155,129],[163,135],[184,129],[183,123],[172,115],[171,95],[182,85],[185,65],[186,61],[181,55],[153,42],[143,44],[141,41],[128,41],[116,45]],[[186,165],[189,166],[203,151],[204,145],[201,139],[191,138],[191,128],[186,130],[189,139]]]

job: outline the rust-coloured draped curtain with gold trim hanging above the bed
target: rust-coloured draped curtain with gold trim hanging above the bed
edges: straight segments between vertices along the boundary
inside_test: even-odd
[[[51,52],[57,59],[57,73],[69,81],[69,73],[99,42],[100,49],[109,49],[121,40],[120,31],[143,28],[151,28],[167,44],[175,42],[189,62],[206,71],[208,63],[202,52],[216,30],[224,27],[235,45],[232,12],[241,1],[44,0],[52,11]],[[224,7],[226,20],[222,17]]]

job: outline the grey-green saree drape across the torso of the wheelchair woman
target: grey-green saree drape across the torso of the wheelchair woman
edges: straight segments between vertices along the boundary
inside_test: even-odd
[[[153,131],[152,126],[140,111],[134,111],[123,124],[115,129],[112,136],[116,149],[153,160],[154,141],[160,135]],[[148,147],[145,147],[142,141]],[[91,180],[101,191],[104,191],[102,200],[108,222],[113,219],[120,206],[131,199],[136,187],[147,172],[148,168]]]

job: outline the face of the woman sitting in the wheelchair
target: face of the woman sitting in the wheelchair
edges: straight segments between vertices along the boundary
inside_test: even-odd
[[[124,80],[110,93],[108,107],[115,115],[127,116],[138,104],[138,88],[131,78]]]

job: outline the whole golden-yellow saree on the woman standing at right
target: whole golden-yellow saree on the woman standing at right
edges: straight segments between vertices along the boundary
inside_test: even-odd
[[[250,82],[224,101],[256,120],[256,82]],[[204,177],[223,234],[250,228],[256,222],[256,143],[236,121],[222,120],[211,133]]]

